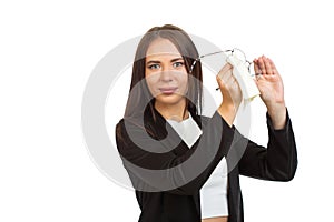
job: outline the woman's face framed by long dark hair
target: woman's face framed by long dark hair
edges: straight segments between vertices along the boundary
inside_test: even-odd
[[[167,39],[156,39],[146,53],[145,78],[156,104],[185,104],[188,74],[177,48]]]

